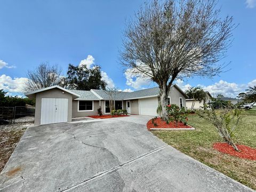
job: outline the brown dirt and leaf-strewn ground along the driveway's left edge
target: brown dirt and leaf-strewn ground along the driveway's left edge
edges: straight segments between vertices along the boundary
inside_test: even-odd
[[[0,125],[0,172],[13,153],[20,138],[29,125],[34,124],[34,118],[22,117],[13,124]]]

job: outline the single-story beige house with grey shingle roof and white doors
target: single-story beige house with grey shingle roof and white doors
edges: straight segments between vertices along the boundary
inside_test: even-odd
[[[67,90],[55,85],[25,95],[36,99],[35,125],[71,122],[73,117],[98,115],[99,107],[104,115],[110,114],[109,97],[103,90]],[[177,85],[171,87],[168,103],[186,108],[186,99],[187,95]],[[127,109],[129,114],[156,116],[159,100],[159,87],[118,92],[115,107]]]

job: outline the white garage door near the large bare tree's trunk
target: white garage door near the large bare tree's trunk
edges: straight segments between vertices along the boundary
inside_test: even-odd
[[[158,107],[157,97],[139,99],[140,115],[156,116],[156,109]]]

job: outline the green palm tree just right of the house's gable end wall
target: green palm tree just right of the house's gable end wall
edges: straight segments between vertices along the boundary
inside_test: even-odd
[[[191,110],[193,110],[193,108],[195,106],[195,103],[196,103],[196,100],[199,100],[199,102],[201,102],[202,100],[205,101],[206,93],[199,86],[190,87],[190,89],[186,90],[185,93],[188,95],[189,99],[193,99],[193,102],[192,102],[192,105],[191,105]]]

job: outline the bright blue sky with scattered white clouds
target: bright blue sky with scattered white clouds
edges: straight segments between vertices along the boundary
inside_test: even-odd
[[[131,91],[154,86],[124,73],[119,65],[125,21],[145,1],[0,0],[0,89],[21,95],[27,70],[48,61],[66,74],[68,63],[100,65],[109,86]],[[221,62],[226,73],[213,79],[178,81],[186,89],[201,85],[211,93],[235,97],[256,85],[256,0],[221,0],[221,17],[233,15],[239,26],[233,46]],[[89,56],[88,56],[89,55]]]

